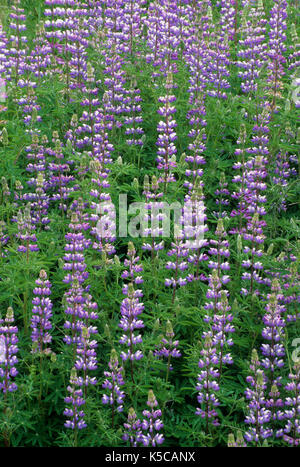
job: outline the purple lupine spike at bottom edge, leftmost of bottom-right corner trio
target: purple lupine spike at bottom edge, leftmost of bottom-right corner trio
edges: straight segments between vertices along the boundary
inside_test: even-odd
[[[260,369],[260,366],[257,351],[254,349],[250,364],[252,375],[246,378],[251,387],[248,387],[245,391],[246,399],[249,401],[248,415],[245,418],[245,423],[249,425],[249,428],[245,433],[245,440],[248,443],[254,443],[255,446],[258,446],[262,439],[269,438],[273,434],[272,429],[265,427],[270,422],[272,414],[266,408],[264,395],[266,382],[264,372]]]

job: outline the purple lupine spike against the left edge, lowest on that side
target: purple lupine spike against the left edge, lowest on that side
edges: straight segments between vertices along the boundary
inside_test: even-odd
[[[0,390],[4,394],[18,389],[13,381],[18,374],[16,365],[18,358],[18,328],[14,325],[14,312],[11,307],[7,309],[4,319],[0,319]],[[6,396],[5,396],[6,397]]]

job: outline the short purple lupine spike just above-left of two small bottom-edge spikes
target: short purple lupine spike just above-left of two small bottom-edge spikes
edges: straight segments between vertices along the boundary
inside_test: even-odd
[[[102,403],[111,405],[112,409],[112,428],[114,427],[115,412],[123,411],[123,399],[125,392],[120,386],[125,384],[123,377],[123,367],[119,366],[118,354],[115,349],[112,349],[110,360],[108,362],[109,370],[104,371],[105,381],[102,384],[104,389],[109,390],[109,394],[103,394]]]

